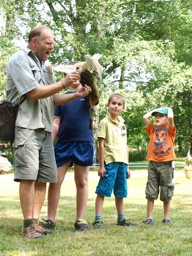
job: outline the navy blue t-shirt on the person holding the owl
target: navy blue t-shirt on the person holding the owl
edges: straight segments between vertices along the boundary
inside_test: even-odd
[[[74,93],[68,91],[66,93]],[[54,116],[60,117],[58,141],[92,141],[93,130],[89,129],[89,108],[87,96],[56,106]]]

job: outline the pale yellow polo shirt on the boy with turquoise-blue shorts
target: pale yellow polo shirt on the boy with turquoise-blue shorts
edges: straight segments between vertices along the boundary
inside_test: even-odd
[[[110,114],[107,113],[98,126],[97,137],[105,139],[104,160],[106,164],[112,162],[128,164],[125,120],[118,116],[118,121],[118,123],[113,121]]]

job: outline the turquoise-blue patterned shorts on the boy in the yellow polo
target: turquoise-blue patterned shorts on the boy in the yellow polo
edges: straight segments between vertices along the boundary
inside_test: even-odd
[[[127,197],[127,164],[122,162],[112,162],[106,164],[104,161],[106,173],[100,178],[95,193],[102,196]]]

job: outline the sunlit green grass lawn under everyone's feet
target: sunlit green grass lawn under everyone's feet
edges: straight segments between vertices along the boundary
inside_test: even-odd
[[[134,168],[135,169],[135,168]],[[90,172],[89,200],[85,219],[90,232],[76,232],[73,228],[76,215],[74,173],[67,173],[61,190],[57,212],[57,229],[51,236],[27,240],[21,237],[23,217],[20,208],[19,183],[13,175],[0,176],[0,255],[1,256],[52,256],[52,255],[192,255],[192,179],[188,181],[184,172],[176,170],[175,193],[171,202],[170,217],[174,225],[163,225],[163,203],[155,201],[155,226],[145,226],[145,185],[147,170],[133,170],[127,180],[128,197],[124,200],[125,215],[138,222],[137,227],[116,226],[117,213],[114,196],[105,198],[102,218],[105,228],[93,229],[95,188],[98,183],[96,172]],[[47,197],[41,217],[46,216]]]

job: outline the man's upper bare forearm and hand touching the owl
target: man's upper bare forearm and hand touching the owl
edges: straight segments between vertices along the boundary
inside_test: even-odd
[[[80,80],[80,76],[78,72],[73,71],[67,74],[63,81],[54,84],[39,86],[31,90],[30,92],[27,92],[26,95],[30,100],[44,99],[72,85],[77,80]]]

